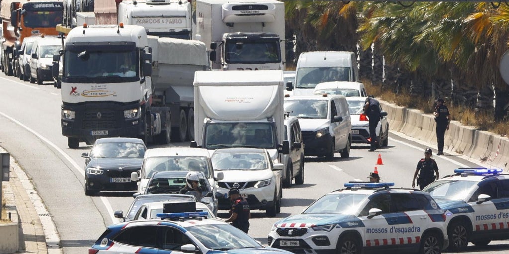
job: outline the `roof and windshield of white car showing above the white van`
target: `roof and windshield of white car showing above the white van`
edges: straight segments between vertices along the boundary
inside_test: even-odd
[[[366,88],[360,82],[333,81],[324,82],[315,86],[314,94],[341,94],[345,97],[367,97]]]

